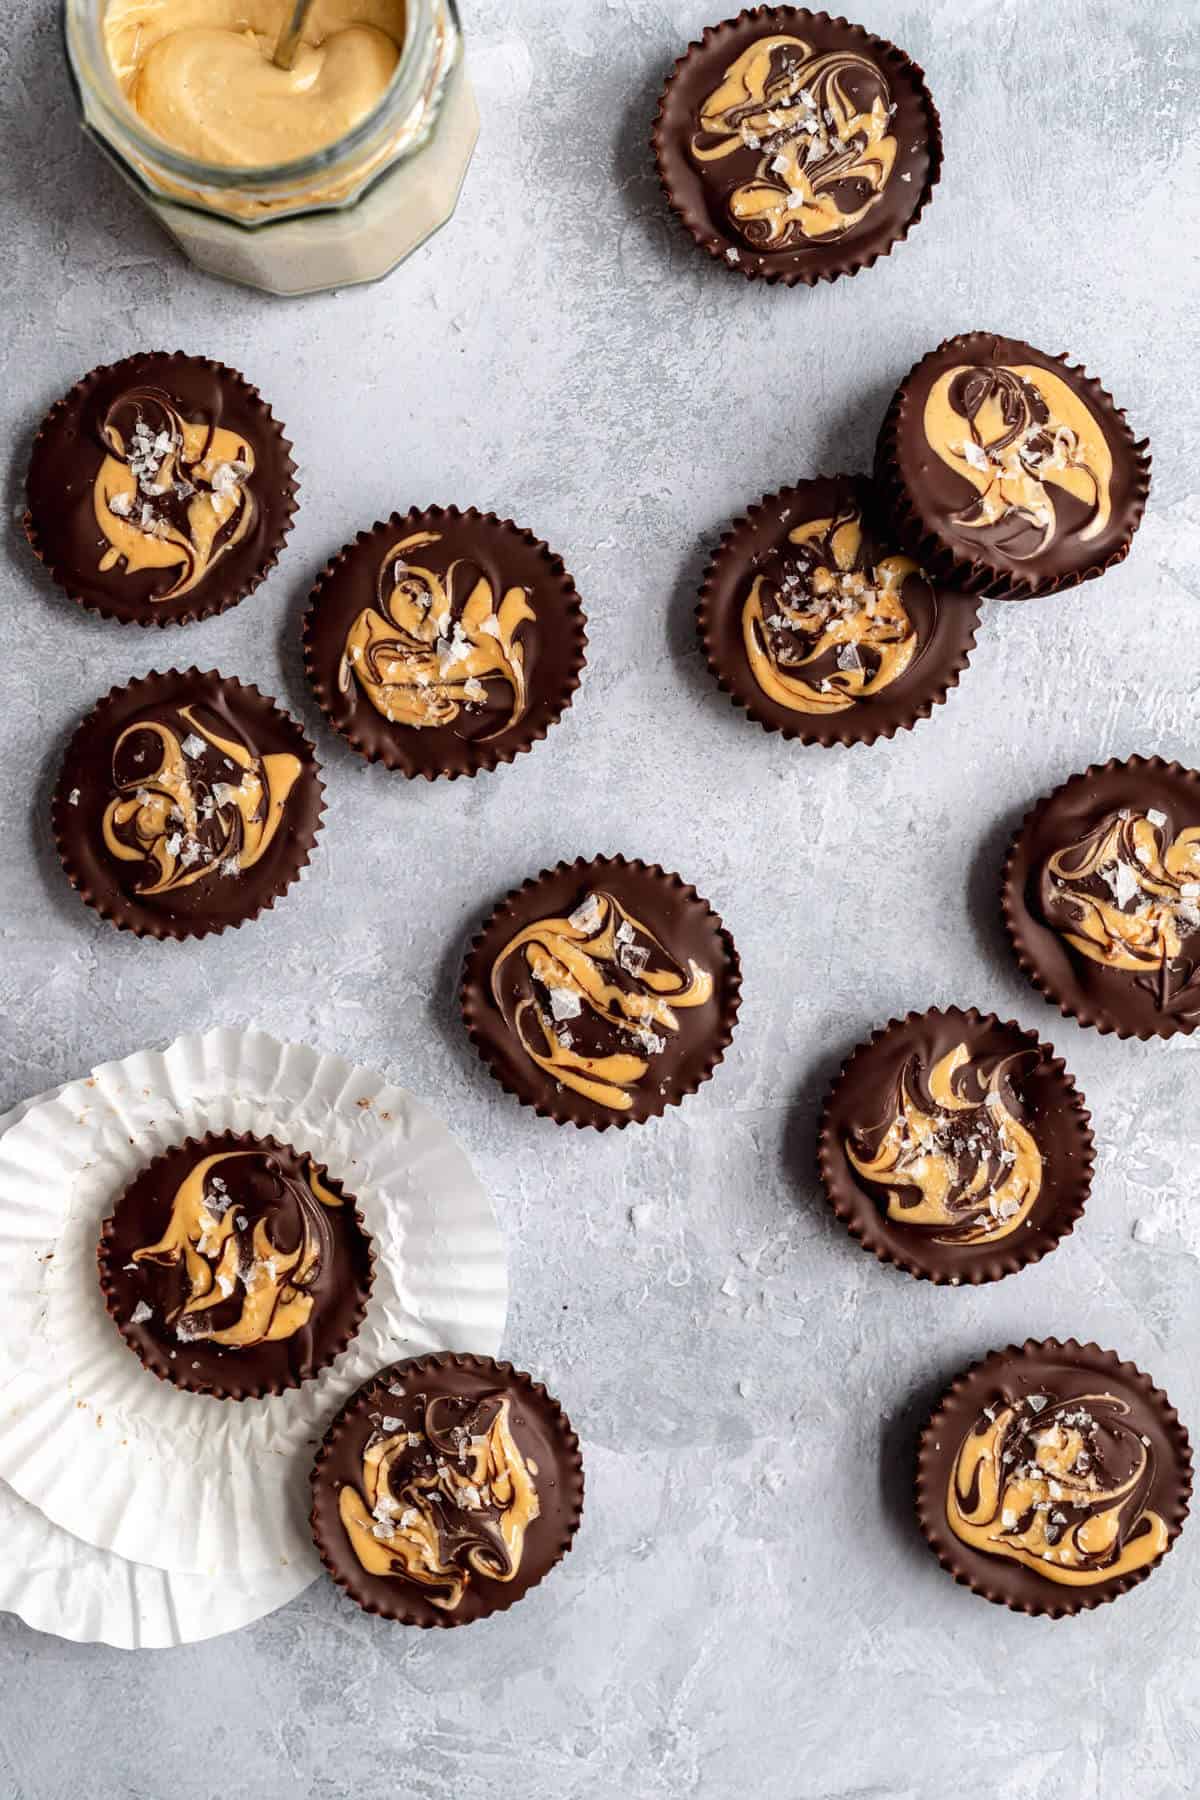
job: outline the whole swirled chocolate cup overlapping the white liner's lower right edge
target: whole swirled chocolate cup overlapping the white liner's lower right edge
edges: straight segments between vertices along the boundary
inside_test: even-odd
[[[363,1611],[401,1625],[507,1611],[561,1562],[581,1517],[583,1458],[563,1408],[482,1355],[381,1370],[333,1420],[313,1467],[320,1561]],[[407,1552],[425,1582],[407,1573]]]

